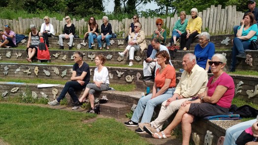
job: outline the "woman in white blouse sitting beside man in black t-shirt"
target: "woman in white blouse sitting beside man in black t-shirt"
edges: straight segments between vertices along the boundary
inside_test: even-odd
[[[97,68],[94,70],[94,77],[93,82],[94,84],[88,84],[85,88],[85,91],[82,95],[82,97],[79,99],[80,103],[83,102],[83,100],[87,97],[89,94],[89,99],[91,103],[91,108],[89,111],[94,109],[94,93],[96,91],[105,91],[109,88],[109,78],[108,78],[108,70],[103,64],[105,63],[106,58],[102,55],[98,55],[95,58],[95,63],[97,65]]]

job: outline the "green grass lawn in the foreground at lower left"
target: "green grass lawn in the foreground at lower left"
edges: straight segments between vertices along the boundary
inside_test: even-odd
[[[0,137],[10,145],[148,145],[113,118],[0,103]]]

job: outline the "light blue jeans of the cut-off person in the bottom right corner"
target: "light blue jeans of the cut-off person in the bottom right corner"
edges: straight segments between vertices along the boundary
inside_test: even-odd
[[[226,129],[226,136],[223,145],[236,145],[236,139],[247,128],[251,127],[257,119],[238,123]]]

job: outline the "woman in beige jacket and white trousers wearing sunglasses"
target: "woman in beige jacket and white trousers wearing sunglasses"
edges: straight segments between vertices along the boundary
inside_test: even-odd
[[[121,58],[124,58],[124,55],[129,52],[129,65],[128,66],[132,66],[133,63],[133,56],[134,56],[134,52],[136,50],[140,50],[141,52],[147,48],[147,44],[145,41],[145,34],[144,31],[141,30],[141,24],[140,23],[135,23],[134,24],[134,32],[131,33],[129,41],[128,41],[128,46],[125,49],[124,52],[122,53],[118,53],[118,55]]]

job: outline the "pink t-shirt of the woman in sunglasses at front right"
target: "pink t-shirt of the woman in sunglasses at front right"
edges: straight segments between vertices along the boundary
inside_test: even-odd
[[[217,105],[224,107],[224,108],[230,108],[231,102],[232,102],[232,99],[233,99],[234,93],[235,93],[235,84],[234,84],[233,79],[228,74],[226,74],[226,72],[224,72],[218,78],[217,81],[215,81],[213,84],[211,84],[213,78],[214,78],[214,76],[212,76],[209,79],[209,82],[207,84],[208,96],[212,96],[215,91],[215,88],[219,85],[227,87],[226,92],[223,94],[223,96],[217,102]]]

